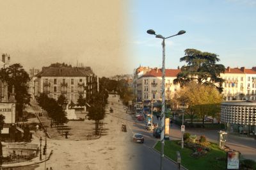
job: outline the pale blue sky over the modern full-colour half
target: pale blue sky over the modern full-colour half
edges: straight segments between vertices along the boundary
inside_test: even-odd
[[[226,68],[256,66],[255,0],[133,0],[129,17],[134,68],[162,66],[161,39],[148,29],[165,37],[186,31],[166,40],[166,68],[184,65],[185,49],[218,54]]]

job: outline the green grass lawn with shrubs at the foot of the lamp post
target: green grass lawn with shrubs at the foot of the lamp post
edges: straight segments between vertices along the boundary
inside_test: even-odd
[[[189,170],[217,170],[225,169],[226,162],[225,160],[216,160],[216,157],[225,157],[226,153],[223,150],[220,150],[217,144],[211,143],[211,151],[207,155],[200,158],[191,157],[192,150],[188,148],[181,149],[181,146],[177,144],[178,141],[165,141],[164,142],[164,155],[173,160],[177,160],[176,151],[180,151],[181,155],[181,164],[182,166],[188,168]],[[158,142],[155,146],[155,149],[161,150],[161,143]]]

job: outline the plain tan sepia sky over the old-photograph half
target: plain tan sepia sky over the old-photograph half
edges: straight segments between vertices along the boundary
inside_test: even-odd
[[[51,63],[127,73],[125,3],[120,0],[0,1],[0,52],[26,70]],[[125,40],[125,41],[124,41]]]

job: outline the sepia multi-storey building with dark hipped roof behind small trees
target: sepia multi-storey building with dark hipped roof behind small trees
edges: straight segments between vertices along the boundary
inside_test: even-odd
[[[79,95],[89,100],[97,91],[97,76],[90,67],[43,67],[35,77],[35,97],[47,93],[57,100],[64,95],[76,104]]]

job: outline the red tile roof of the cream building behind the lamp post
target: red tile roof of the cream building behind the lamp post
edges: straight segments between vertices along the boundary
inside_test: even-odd
[[[166,69],[165,76],[166,77],[177,77],[177,74],[180,72],[179,69]],[[149,72],[145,73],[142,77],[162,77],[162,70],[161,69],[153,69]]]

